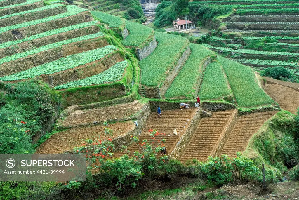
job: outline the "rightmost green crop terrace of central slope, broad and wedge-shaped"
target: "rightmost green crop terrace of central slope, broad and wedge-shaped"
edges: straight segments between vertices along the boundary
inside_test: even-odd
[[[274,103],[257,85],[257,79],[251,67],[220,56],[218,56],[218,60],[224,68],[239,107]]]

